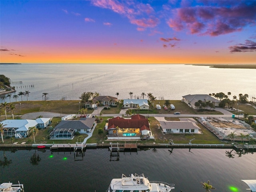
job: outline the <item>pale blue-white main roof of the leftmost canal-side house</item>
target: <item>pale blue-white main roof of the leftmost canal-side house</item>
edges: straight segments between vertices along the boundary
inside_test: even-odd
[[[16,131],[28,131],[28,128],[37,126],[36,120],[30,119],[7,119],[3,120],[4,128],[18,128]]]

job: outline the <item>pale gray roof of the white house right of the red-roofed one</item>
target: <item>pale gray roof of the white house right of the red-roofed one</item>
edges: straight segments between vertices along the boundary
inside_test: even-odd
[[[163,129],[200,129],[190,121],[160,121]]]

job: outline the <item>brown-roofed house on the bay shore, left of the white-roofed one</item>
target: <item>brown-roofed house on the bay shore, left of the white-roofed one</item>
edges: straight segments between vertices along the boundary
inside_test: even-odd
[[[88,101],[84,104],[85,108],[94,108],[96,105],[96,102],[99,102],[99,105],[104,105],[104,106],[116,106],[118,99],[116,97],[112,96],[98,96],[94,97],[91,101]]]

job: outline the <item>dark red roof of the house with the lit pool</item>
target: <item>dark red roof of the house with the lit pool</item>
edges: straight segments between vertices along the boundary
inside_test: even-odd
[[[142,118],[142,115],[134,115],[131,119],[124,119],[122,117],[116,117],[108,120],[108,130],[119,127],[119,128],[142,128],[150,130],[148,120]]]

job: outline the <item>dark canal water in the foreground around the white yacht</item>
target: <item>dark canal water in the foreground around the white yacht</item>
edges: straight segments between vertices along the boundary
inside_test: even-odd
[[[3,149],[0,159],[4,160]],[[169,149],[170,150],[170,149]],[[242,179],[256,179],[256,154],[241,157],[230,149],[152,149],[120,153],[119,161],[110,161],[108,149],[86,150],[85,156],[74,158],[74,152],[45,152],[38,150],[5,151],[12,160],[9,166],[1,166],[1,182],[20,181],[26,192],[105,192],[112,178],[123,174],[144,173],[149,180],[174,183],[174,192],[204,192],[200,182],[211,181],[215,192],[246,192],[248,186]],[[41,160],[30,162],[33,154]],[[50,157],[52,155],[52,158]],[[66,158],[66,160],[64,160]],[[116,158],[112,158],[116,160]]]

